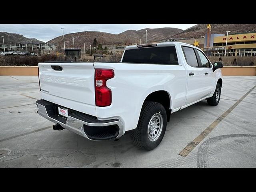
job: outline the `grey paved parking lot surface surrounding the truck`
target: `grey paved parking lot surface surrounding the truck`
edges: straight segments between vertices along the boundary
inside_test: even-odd
[[[175,112],[161,144],[144,151],[133,146],[129,134],[93,142],[65,129],[54,131],[36,112],[38,77],[0,76],[0,168],[255,168],[255,86],[256,76],[224,76],[218,106],[204,100]],[[181,156],[184,148],[187,154]]]

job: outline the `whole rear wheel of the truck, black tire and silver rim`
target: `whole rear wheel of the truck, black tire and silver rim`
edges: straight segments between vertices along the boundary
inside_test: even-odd
[[[166,130],[167,116],[162,104],[146,102],[142,106],[138,126],[131,133],[135,146],[144,150],[156,148]]]

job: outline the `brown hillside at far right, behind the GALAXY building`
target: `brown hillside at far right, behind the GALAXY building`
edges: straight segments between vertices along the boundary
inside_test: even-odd
[[[210,24],[212,33],[226,34],[226,31],[230,31],[230,34],[234,33],[246,33],[256,31],[256,24]],[[207,24],[198,24],[192,26],[178,34],[173,38],[200,38],[206,34]]]

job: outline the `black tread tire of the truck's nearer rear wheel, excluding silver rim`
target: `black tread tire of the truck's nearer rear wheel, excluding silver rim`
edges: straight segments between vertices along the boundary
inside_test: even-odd
[[[159,131],[159,136],[157,136],[156,140],[152,141],[148,136],[148,126],[151,118],[156,114],[160,114],[160,116],[162,116],[162,131]],[[167,116],[164,106],[157,102],[145,102],[140,112],[140,118],[137,128],[133,130],[131,133],[132,141],[138,148],[144,150],[152,150],[156,148],[162,141],[162,138],[164,137],[164,133],[166,130],[166,124]]]

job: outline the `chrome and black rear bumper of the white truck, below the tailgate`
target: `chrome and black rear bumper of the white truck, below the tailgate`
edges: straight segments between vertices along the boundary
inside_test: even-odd
[[[124,126],[118,119],[98,120],[96,117],[72,109],[69,109],[72,113],[68,114],[68,118],[64,118],[57,114],[58,105],[56,104],[46,100],[37,100],[36,105],[38,114],[44,118],[89,140],[110,140],[122,136]]]

